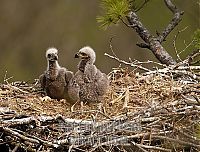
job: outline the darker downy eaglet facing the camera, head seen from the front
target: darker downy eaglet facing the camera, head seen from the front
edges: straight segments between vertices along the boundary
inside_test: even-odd
[[[66,99],[68,102],[68,84],[73,72],[58,64],[58,50],[49,48],[46,51],[47,70],[39,77],[41,87],[52,99]]]

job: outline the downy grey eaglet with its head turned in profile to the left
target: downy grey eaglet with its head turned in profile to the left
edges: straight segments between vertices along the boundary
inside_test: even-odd
[[[81,61],[78,64],[78,71],[69,83],[70,98],[84,103],[101,101],[108,89],[109,79],[94,65],[94,50],[89,46],[83,47],[75,58],[81,58]]]

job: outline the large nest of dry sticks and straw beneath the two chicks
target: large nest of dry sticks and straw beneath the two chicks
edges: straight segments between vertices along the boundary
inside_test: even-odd
[[[0,85],[4,151],[199,151],[198,72],[115,68],[101,103],[53,100],[33,84]]]

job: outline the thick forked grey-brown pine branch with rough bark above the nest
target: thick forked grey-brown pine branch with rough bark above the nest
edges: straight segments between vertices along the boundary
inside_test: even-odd
[[[166,39],[169,33],[178,25],[181,21],[181,15],[183,15],[183,11],[179,11],[176,6],[171,2],[171,0],[164,0],[166,6],[170,9],[170,11],[174,14],[174,17],[167,25],[167,27],[163,30],[158,37],[154,37],[148,31],[147,28],[140,22],[137,14],[134,11],[130,11],[127,19],[130,24],[129,27],[133,28],[138,35],[144,40],[145,43],[137,44],[137,46],[141,48],[150,49],[156,58],[163,64],[173,65],[176,64],[176,61],[170,56],[170,54],[164,49],[161,43]],[[145,3],[148,1],[145,1]]]

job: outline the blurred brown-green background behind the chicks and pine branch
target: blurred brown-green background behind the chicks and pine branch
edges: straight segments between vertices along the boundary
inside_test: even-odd
[[[171,32],[165,48],[175,57],[173,38],[178,30],[188,27],[177,40],[177,49],[183,50],[184,41],[189,43],[193,32],[199,28],[199,0],[174,0],[185,12],[182,22]],[[123,24],[107,30],[99,28],[96,17],[102,14],[100,0],[0,0],[0,82],[7,71],[10,81],[32,82],[46,69],[45,51],[48,47],[59,49],[59,63],[69,70],[77,71],[78,60],[74,54],[83,46],[96,50],[96,65],[109,73],[118,62],[104,56],[113,49],[123,60],[131,57],[140,61],[155,60],[149,50],[135,44],[140,38]],[[152,32],[169,23],[172,13],[163,0],[151,0],[139,13],[144,25]],[[186,51],[183,56],[188,53]]]

